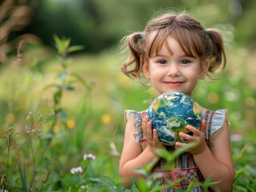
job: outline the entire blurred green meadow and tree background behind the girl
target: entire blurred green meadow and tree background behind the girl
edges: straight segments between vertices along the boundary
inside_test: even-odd
[[[156,95],[121,74],[120,39],[185,10],[223,34],[226,70],[193,96],[229,110],[234,191],[255,191],[255,9],[254,0],[0,1],[1,189],[124,191],[124,110],[145,110]]]

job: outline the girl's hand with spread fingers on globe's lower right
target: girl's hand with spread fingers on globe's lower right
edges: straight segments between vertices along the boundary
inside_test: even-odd
[[[205,120],[201,121],[201,129],[200,130],[198,130],[197,128],[195,128],[193,126],[189,126],[189,125],[186,126],[186,129],[189,130],[189,132],[193,132],[193,135],[191,136],[189,134],[180,132],[179,136],[181,138],[184,138],[188,142],[196,142],[197,145],[191,147],[188,150],[188,152],[190,154],[200,154],[207,147],[206,142],[205,142],[205,130],[206,130]],[[175,148],[185,146],[185,145],[186,145],[186,143],[177,142]]]

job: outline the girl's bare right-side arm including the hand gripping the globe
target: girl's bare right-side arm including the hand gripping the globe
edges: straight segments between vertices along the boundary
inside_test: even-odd
[[[193,154],[201,174],[205,179],[210,178],[211,182],[218,182],[211,186],[214,191],[230,191],[234,182],[234,165],[230,149],[230,133],[228,122],[225,122],[220,133],[213,138],[213,146],[208,147],[205,142],[206,124],[203,121],[201,131],[193,126],[188,127],[193,131],[193,136],[181,134],[190,142],[197,142],[198,145],[189,150]],[[177,147],[185,144],[177,143]]]

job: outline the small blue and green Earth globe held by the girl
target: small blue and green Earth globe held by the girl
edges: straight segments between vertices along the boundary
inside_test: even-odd
[[[158,138],[165,146],[175,146],[176,142],[186,142],[179,132],[192,135],[185,128],[192,125],[199,129],[201,107],[186,94],[169,92],[159,95],[148,108],[152,129],[157,130]]]

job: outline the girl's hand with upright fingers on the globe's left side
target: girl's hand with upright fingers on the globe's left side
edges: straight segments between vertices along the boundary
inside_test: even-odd
[[[159,141],[157,130],[152,130],[152,124],[148,115],[142,121],[142,130],[148,142],[148,149],[155,153],[155,148],[165,149],[165,146]]]

